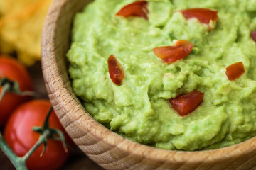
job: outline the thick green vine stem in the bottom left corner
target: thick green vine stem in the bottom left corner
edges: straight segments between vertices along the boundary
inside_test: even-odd
[[[9,145],[7,145],[4,137],[0,133],[0,149],[9,157],[11,163],[17,170],[27,170],[26,162],[23,161],[23,158],[16,156],[11,150]]]

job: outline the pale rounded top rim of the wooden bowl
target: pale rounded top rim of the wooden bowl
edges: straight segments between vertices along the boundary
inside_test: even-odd
[[[92,118],[92,116],[85,111],[82,104],[78,101],[78,98],[74,98],[74,93],[72,90],[67,88],[67,82],[63,80],[63,73],[58,69],[58,65],[56,64],[56,53],[53,52],[55,49],[55,34],[58,31],[57,23],[60,18],[60,13],[62,11],[62,6],[68,4],[69,0],[55,0],[53,1],[53,5],[50,7],[50,11],[48,12],[48,16],[46,18],[46,23],[43,28],[42,35],[42,69],[43,69],[43,77],[46,83],[46,89],[48,91],[48,95],[51,98],[50,101],[53,103],[53,94],[54,94],[54,103],[53,107],[55,108],[55,112],[58,114],[58,110],[56,105],[60,105],[60,107],[65,108],[67,112],[65,116],[68,116],[71,120],[78,120],[78,126],[82,130],[87,131],[90,129],[95,137],[107,144],[117,147],[124,152],[132,153],[138,156],[143,156],[144,159],[152,159],[159,161],[166,161],[169,159],[171,162],[186,162],[186,164],[194,164],[195,162],[203,164],[203,162],[219,162],[220,159],[230,159],[231,157],[238,160],[242,155],[252,154],[256,152],[256,137],[251,138],[245,142],[241,142],[240,144],[233,145],[230,147],[224,147],[220,149],[212,149],[212,150],[203,150],[203,151],[176,151],[176,150],[165,150],[158,149],[155,147],[149,147],[147,145],[142,145],[137,142],[133,142],[131,140],[127,140],[126,138],[118,135],[115,132],[105,128],[102,124],[98,123],[97,120]],[[58,6],[58,7],[57,7]],[[49,34],[49,31],[51,32]],[[63,57],[63,56],[62,56]],[[50,70],[51,72],[48,72]],[[68,72],[68,71],[67,71]],[[58,86],[54,83],[55,80],[58,79]],[[69,80],[70,81],[70,80]],[[58,90],[62,89],[62,90]],[[63,92],[65,95],[63,95]],[[70,100],[73,98],[73,100]],[[56,104],[57,101],[57,104]],[[80,113],[80,118],[75,114],[72,114],[73,109],[70,107],[78,106],[76,111]],[[59,106],[58,106],[59,107]],[[90,124],[90,127],[82,126],[81,122],[86,120],[87,124]],[[60,122],[62,118],[60,118]],[[129,146],[129,147],[127,147]],[[90,154],[89,154],[90,155]]]

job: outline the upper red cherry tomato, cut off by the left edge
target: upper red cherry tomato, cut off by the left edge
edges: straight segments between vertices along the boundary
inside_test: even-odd
[[[21,91],[32,91],[32,79],[23,65],[11,57],[0,56],[0,78],[7,77],[11,81],[17,81]],[[0,93],[2,87],[0,86]],[[21,103],[28,101],[29,96],[18,96],[8,92],[0,101],[0,126],[6,123],[11,112]]]

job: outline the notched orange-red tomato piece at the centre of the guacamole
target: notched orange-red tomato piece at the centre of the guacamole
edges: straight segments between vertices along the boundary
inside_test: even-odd
[[[175,46],[156,47],[154,54],[166,63],[176,62],[191,53],[193,44],[187,40],[178,40]]]

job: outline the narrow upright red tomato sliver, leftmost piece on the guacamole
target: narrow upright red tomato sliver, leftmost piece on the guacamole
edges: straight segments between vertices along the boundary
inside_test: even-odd
[[[117,58],[114,55],[110,55],[107,60],[108,69],[110,73],[110,78],[112,79],[114,84],[121,85],[122,80],[124,79],[124,69],[122,69],[122,65],[117,61]]]

